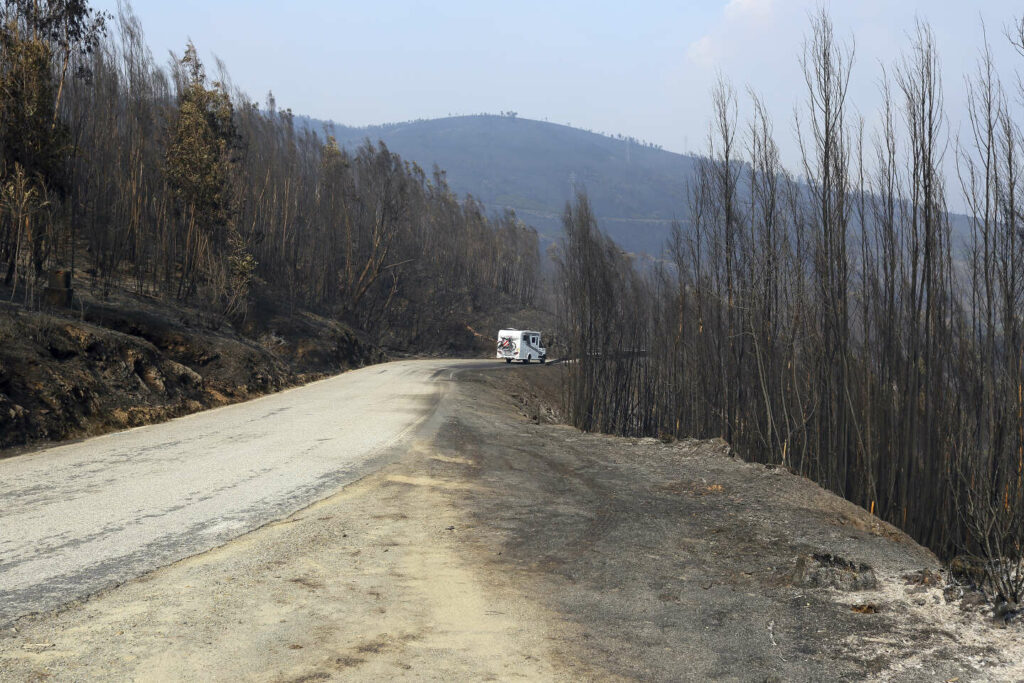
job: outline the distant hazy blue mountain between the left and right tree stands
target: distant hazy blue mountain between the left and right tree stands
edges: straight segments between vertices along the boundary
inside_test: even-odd
[[[319,122],[302,125],[323,130]],[[672,221],[686,218],[686,183],[696,168],[694,157],[514,116],[335,124],[331,132],[349,150],[380,140],[428,174],[438,166],[455,193],[472,195],[489,211],[513,209],[545,241],[560,237],[573,186],[586,189],[602,229],[627,251],[653,255]]]

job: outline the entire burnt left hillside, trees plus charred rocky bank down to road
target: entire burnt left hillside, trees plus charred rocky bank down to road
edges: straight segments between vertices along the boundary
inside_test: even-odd
[[[380,348],[465,353],[535,301],[538,236],[513,213],[261,109],[183,47],[164,69],[128,9],[0,2],[0,446]]]

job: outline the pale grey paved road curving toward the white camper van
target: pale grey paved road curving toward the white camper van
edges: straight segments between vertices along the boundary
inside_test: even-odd
[[[0,625],[280,519],[374,470],[460,367],[406,360],[0,461]]]

